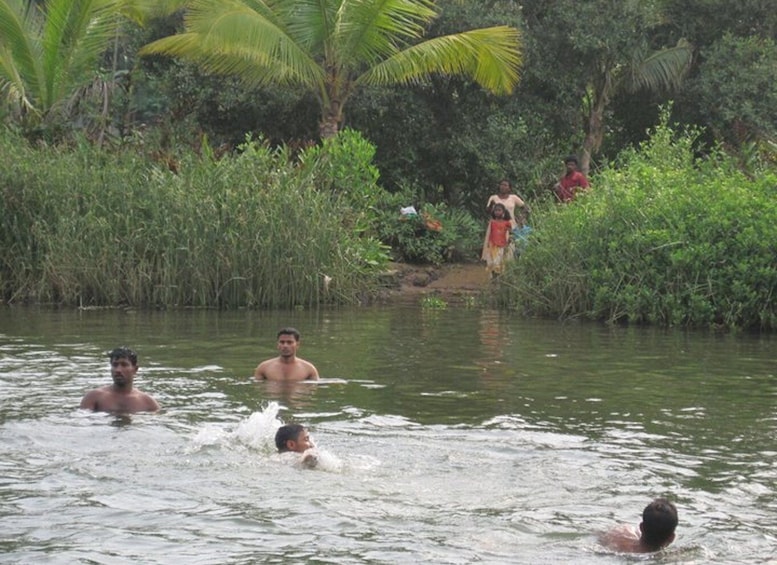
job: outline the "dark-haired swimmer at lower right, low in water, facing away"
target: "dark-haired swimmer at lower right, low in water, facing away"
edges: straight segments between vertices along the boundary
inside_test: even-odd
[[[627,525],[618,526],[599,536],[599,542],[614,551],[648,553],[674,541],[677,508],[665,498],[656,498],[642,511],[639,532]]]

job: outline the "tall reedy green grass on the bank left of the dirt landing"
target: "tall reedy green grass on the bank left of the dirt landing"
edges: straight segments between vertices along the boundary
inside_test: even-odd
[[[353,211],[316,189],[315,167],[250,143],[219,161],[188,155],[177,168],[88,145],[31,149],[1,134],[3,298],[291,307],[355,302],[373,289],[375,242],[343,225]]]

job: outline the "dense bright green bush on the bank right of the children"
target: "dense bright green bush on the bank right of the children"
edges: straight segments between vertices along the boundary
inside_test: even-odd
[[[695,138],[662,124],[540,214],[502,298],[541,316],[777,328],[777,172],[698,159]]]

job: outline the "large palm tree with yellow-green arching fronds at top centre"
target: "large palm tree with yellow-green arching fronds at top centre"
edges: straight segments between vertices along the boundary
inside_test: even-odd
[[[141,54],[187,58],[251,86],[292,85],[316,94],[322,138],[362,85],[462,75],[508,94],[518,81],[519,34],[496,26],[421,41],[432,0],[191,0],[185,31]]]

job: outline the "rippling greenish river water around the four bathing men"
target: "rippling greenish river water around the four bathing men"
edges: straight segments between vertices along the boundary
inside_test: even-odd
[[[256,383],[293,325],[318,384]],[[139,354],[159,414],[78,409]],[[0,310],[2,563],[777,563],[774,336],[492,310]],[[309,426],[317,469],[274,453]],[[675,543],[596,534],[667,496]]]

